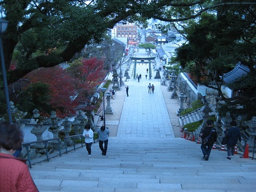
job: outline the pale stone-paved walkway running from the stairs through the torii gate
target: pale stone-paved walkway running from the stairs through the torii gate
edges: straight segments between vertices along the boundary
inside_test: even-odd
[[[144,49],[139,49],[136,57],[147,57],[147,54]],[[156,61],[156,68],[158,69],[160,60],[156,58]],[[110,136],[172,138],[175,137],[174,132],[179,134],[180,126],[176,116],[178,101],[177,99],[170,99],[171,92],[167,92],[167,87],[160,85],[160,79],[154,78],[156,71],[153,69],[153,64],[151,65],[152,80],[148,80],[148,77],[145,78],[145,75],[148,76],[149,74],[146,73],[148,63],[137,63],[136,73],[142,76],[140,82],[138,79],[133,80],[132,65],[129,71],[131,79],[125,82],[121,91],[117,91],[116,98],[111,99],[114,114],[105,115],[106,126],[111,131]],[[160,75],[162,77],[162,72]],[[148,93],[148,83],[154,84],[154,94]],[[126,96],[126,86],[129,86],[129,97]],[[102,123],[101,121],[97,124]]]

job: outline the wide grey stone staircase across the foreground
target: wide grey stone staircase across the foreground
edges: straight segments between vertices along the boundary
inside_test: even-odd
[[[46,191],[255,191],[256,161],[212,150],[202,160],[200,144],[182,138],[110,137],[106,156],[98,143],[92,155],[78,148],[32,166]]]

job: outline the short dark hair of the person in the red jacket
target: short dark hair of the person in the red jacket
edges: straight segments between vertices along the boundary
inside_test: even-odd
[[[16,150],[22,146],[24,134],[15,124],[7,122],[0,123],[0,148]]]

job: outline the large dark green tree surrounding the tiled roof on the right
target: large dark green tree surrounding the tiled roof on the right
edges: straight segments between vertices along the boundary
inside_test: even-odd
[[[220,76],[241,61],[250,69],[247,79],[239,79],[235,85],[228,86],[256,94],[254,12],[252,6],[233,6],[228,10],[224,6],[217,9],[217,15],[203,13],[199,22],[191,21],[184,28],[189,42],[177,49],[176,60],[180,65],[195,75],[198,83],[217,90],[221,99],[228,102],[227,110],[240,105],[237,112],[241,115],[255,109],[255,99],[249,100],[242,95],[226,98],[221,91],[223,79]],[[217,87],[212,86],[211,82],[215,82]]]

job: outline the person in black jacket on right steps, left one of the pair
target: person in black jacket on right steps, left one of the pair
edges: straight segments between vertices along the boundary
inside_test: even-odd
[[[210,156],[210,151],[211,151],[212,145],[214,145],[214,143],[217,141],[218,135],[217,135],[216,129],[215,129],[214,127],[212,127],[212,126],[214,125],[214,121],[213,121],[213,120],[208,119],[208,120],[206,121],[206,125],[207,125],[207,126],[204,127],[204,130],[203,130],[203,133],[202,133],[201,138],[202,138],[202,141],[203,141],[204,138],[207,137],[208,135],[210,135],[210,138],[209,138],[209,140],[208,140],[207,143],[205,143],[205,144],[202,143],[202,145],[201,145],[201,150],[202,150],[203,155],[204,155],[203,159],[204,159],[205,161],[208,161],[209,156]],[[211,132],[211,130],[212,130],[212,132]]]

